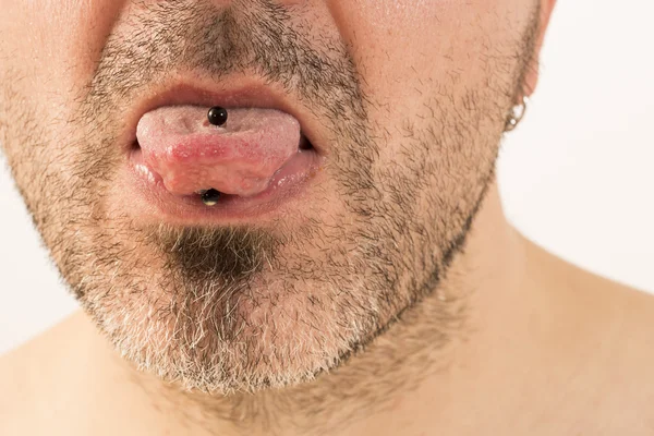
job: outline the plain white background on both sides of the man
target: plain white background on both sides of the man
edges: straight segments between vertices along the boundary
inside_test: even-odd
[[[547,250],[654,291],[654,3],[559,0],[525,120],[504,143],[506,214]],[[0,169],[0,353],[76,307]]]

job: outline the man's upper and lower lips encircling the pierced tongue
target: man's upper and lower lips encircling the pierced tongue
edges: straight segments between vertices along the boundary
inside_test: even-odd
[[[147,166],[143,165],[137,147],[136,125],[141,117],[159,107],[175,105],[277,109],[298,119],[302,135],[313,148],[299,150],[264,192],[252,197],[227,195],[217,205],[205,206],[199,195],[173,195],[157,174],[147,174]],[[178,77],[175,83],[148,88],[148,94],[125,111],[124,120],[129,132],[124,138],[126,165],[113,195],[122,201],[121,204],[130,204],[130,214],[142,222],[167,221],[183,226],[234,221],[261,223],[265,217],[296,215],[299,205],[310,199],[311,186],[323,177],[320,171],[326,156],[317,141],[318,120],[289,93],[275,85],[264,85],[256,78],[226,78],[211,86],[211,82],[203,77]]]

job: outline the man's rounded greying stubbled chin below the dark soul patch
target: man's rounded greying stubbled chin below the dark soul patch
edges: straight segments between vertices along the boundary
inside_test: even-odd
[[[83,304],[138,370],[184,390],[226,396],[314,380],[362,341],[364,331],[344,325],[337,305],[305,298],[328,290],[304,286],[259,277],[214,295],[206,293],[210,286],[198,294],[177,284],[111,298],[87,293]]]

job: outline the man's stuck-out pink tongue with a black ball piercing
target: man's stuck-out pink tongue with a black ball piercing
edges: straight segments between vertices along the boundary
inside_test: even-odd
[[[228,109],[221,126],[208,108],[169,106],[144,114],[136,138],[145,164],[173,194],[215,189],[250,196],[264,191],[295,153],[300,123],[275,109]]]

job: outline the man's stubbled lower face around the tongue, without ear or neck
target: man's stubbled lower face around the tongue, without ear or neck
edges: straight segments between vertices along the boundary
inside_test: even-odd
[[[538,15],[520,0],[0,10],[0,141],[62,276],[125,356],[223,392],[311,379],[438,288]],[[146,109],[245,88],[243,106],[298,118],[308,179],[232,215],[137,181]]]

